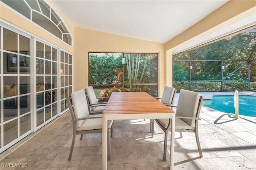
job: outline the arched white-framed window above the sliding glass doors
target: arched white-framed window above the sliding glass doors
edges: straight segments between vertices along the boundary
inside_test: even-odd
[[[38,26],[72,45],[72,37],[65,23],[45,0],[1,0]]]

